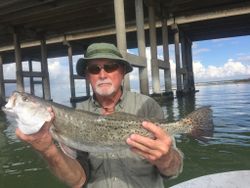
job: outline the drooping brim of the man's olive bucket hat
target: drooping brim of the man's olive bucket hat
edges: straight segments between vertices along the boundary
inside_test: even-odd
[[[94,59],[111,59],[114,60],[118,63],[121,63],[125,66],[125,74],[131,72],[133,70],[133,67],[130,65],[130,63],[128,61],[126,61],[123,58],[114,58],[114,57],[110,57],[110,56],[101,56],[101,57],[94,57],[94,58],[80,58],[78,59],[77,63],[76,63],[76,73],[79,76],[85,76],[85,70],[87,67],[87,64],[90,60],[94,60]]]

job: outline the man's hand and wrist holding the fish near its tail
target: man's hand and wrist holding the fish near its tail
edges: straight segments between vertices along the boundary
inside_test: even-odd
[[[159,126],[143,122],[142,126],[154,135],[154,139],[132,134],[127,139],[131,150],[151,164],[164,175],[176,175],[182,167],[182,156],[172,147],[171,137]]]

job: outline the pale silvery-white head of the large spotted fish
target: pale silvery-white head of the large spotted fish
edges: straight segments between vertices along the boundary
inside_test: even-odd
[[[38,132],[51,115],[38,97],[14,91],[7,104],[2,108],[7,117],[14,118],[17,126],[25,134]]]

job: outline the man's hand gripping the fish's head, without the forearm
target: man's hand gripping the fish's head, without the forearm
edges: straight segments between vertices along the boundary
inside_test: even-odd
[[[31,135],[26,135],[23,134],[19,128],[16,129],[16,136],[20,140],[31,144],[31,146],[35,150],[41,153],[46,153],[46,151],[50,148],[50,146],[53,145],[53,140],[49,132],[49,129],[52,124],[52,121],[54,120],[55,114],[53,113],[52,108],[48,108],[48,111],[50,112],[51,120],[49,122],[45,122],[45,124],[39,130],[39,132]]]

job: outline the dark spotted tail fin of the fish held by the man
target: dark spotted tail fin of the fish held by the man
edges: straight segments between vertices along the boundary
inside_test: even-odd
[[[184,125],[190,125],[191,130],[188,134],[196,139],[205,140],[213,135],[214,125],[210,106],[198,108],[181,121]]]

